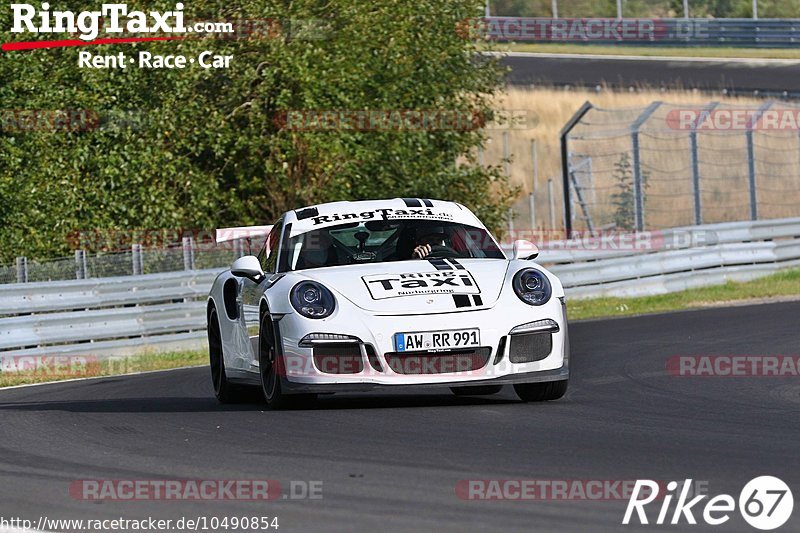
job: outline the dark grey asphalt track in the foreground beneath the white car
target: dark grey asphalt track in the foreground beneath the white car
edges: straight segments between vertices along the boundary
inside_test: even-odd
[[[0,391],[0,515],[278,516],[281,532],[637,531],[620,525],[626,501],[465,501],[455,486],[693,478],[738,499],[748,480],[771,474],[797,498],[800,379],[675,377],[665,363],[796,355],[798,317],[793,302],[575,323],[570,390],[547,404],[505,389],[483,399],[427,389],[329,396],[289,412],[222,407],[206,368]],[[318,480],[323,498],[70,497],[70,483],[87,478]],[[798,531],[798,516],[782,531]],[[738,513],[714,529],[754,531]]]

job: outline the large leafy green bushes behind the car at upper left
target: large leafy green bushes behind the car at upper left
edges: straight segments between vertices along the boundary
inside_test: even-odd
[[[98,6],[51,9],[59,8]],[[478,43],[456,31],[482,8],[480,0],[199,0],[186,4],[187,21],[276,19],[283,30],[3,53],[0,109],[92,110],[102,125],[65,133],[0,124],[0,262],[63,256],[79,230],[269,223],[343,199],[453,199],[500,227],[515,190],[470,157],[480,131],[290,131],[276,121],[290,110],[490,117],[503,71],[476,60]],[[11,34],[10,16],[0,11],[2,42],[64,38]],[[289,30],[298,24],[310,30]],[[79,50],[234,59],[219,70],[81,69]]]

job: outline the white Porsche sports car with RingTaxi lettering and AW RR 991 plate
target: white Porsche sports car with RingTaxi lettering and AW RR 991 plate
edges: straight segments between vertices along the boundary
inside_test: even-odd
[[[555,400],[569,378],[564,289],[516,241],[507,258],[466,207],[335,202],[284,214],[257,256],[214,281],[214,392],[250,385],[273,408],[404,385]]]

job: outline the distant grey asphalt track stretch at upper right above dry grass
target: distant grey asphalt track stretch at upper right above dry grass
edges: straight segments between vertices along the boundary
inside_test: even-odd
[[[624,54],[624,49],[621,52]],[[502,59],[511,67],[512,85],[572,85],[613,88],[650,86],[730,93],[800,96],[800,60],[692,60],[686,58],[628,58],[511,54]]]

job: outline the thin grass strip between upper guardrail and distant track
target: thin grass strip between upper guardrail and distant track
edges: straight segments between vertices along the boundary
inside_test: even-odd
[[[594,44],[515,43],[498,45],[502,52],[534,52],[540,54],[593,54],[620,56],[710,57],[748,59],[800,59],[798,48],[715,48],[661,46],[606,46]]]

